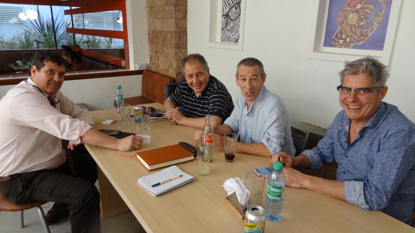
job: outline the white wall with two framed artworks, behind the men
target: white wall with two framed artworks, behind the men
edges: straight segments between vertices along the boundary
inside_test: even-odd
[[[209,1],[188,0],[188,53],[200,53],[210,73],[221,80],[235,100],[236,64],[243,58],[260,59],[265,66],[265,85],[282,97],[290,122],[306,121],[327,128],[341,110],[335,87],[342,62],[308,58],[312,15],[318,0],[247,0],[243,51],[207,47]],[[204,10],[200,10],[204,9]],[[391,55],[389,91],[384,99],[397,105],[415,121],[415,1],[402,0]],[[266,114],[266,113],[264,113]]]

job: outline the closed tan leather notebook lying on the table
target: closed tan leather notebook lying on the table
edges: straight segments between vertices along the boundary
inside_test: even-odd
[[[136,153],[148,171],[184,163],[194,159],[193,153],[176,144]]]

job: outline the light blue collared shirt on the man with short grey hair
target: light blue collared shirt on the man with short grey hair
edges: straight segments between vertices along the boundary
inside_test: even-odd
[[[272,155],[280,151],[291,156],[295,154],[284,102],[265,86],[262,86],[249,111],[247,101],[240,94],[235,109],[224,124],[227,124],[233,133],[239,132],[241,142],[262,142]]]

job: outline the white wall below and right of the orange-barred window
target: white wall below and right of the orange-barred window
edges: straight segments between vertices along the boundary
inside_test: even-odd
[[[147,17],[145,0],[126,0],[129,37],[130,67],[135,63],[148,64]],[[63,94],[75,103],[84,103],[92,110],[114,107],[117,85],[122,85],[125,97],[141,96],[142,76],[94,78],[65,81]],[[0,86],[0,97],[15,85]]]

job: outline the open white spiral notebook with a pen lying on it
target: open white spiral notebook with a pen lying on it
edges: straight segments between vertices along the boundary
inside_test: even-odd
[[[180,178],[168,181],[156,187],[151,187],[154,184],[166,181],[178,175],[182,175],[182,176]],[[148,190],[150,194],[153,194],[153,196],[159,196],[161,194],[165,194],[169,191],[172,191],[173,189],[182,187],[183,185],[190,183],[193,180],[194,180],[194,176],[188,175],[187,173],[180,170],[177,166],[171,166],[171,167],[161,170],[160,172],[156,172],[151,175],[140,177],[137,180],[137,183],[139,183],[146,190]]]

